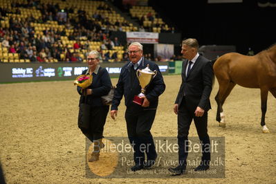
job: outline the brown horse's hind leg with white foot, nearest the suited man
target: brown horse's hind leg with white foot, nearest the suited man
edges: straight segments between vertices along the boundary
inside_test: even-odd
[[[219,91],[218,91],[216,97],[214,98],[217,102],[217,118],[216,118],[216,120],[219,122],[219,126],[223,127],[223,128],[226,127],[226,120],[225,120],[222,106],[235,85],[236,84],[233,82],[220,83]]]

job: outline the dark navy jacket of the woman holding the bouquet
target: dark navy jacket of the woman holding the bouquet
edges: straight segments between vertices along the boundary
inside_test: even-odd
[[[82,71],[85,74],[87,70]],[[100,66],[97,74],[92,73],[93,81],[92,84],[87,89],[92,89],[92,94],[87,95],[86,104],[90,104],[92,107],[103,106],[101,96],[107,95],[112,88],[112,83],[109,77],[109,73],[106,68]],[[81,95],[81,87],[77,86],[77,92]],[[80,103],[84,102],[84,95],[80,96]]]

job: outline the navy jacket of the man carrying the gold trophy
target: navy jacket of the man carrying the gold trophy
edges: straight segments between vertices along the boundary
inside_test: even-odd
[[[141,109],[156,109],[158,106],[158,96],[165,91],[165,83],[163,76],[160,73],[159,67],[154,62],[150,62],[147,59],[142,59],[139,67],[137,69],[146,68],[149,64],[149,69],[151,71],[157,71],[156,77],[149,83],[146,87],[145,95],[147,100],[149,100],[149,107],[141,107]],[[137,70],[136,70],[137,71]],[[120,100],[122,96],[125,97],[125,105],[127,107],[136,105],[132,100],[134,100],[134,95],[138,95],[141,92],[141,86],[139,84],[138,78],[135,77],[133,84],[131,84],[131,64],[128,62],[125,66],[122,66],[120,72],[120,77],[116,89],[114,92],[113,102],[111,105],[112,110],[118,110]]]

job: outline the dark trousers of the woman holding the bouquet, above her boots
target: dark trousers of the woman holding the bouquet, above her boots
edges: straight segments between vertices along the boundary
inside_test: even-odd
[[[82,128],[82,133],[93,142],[102,138],[104,132],[104,124],[107,120],[107,113],[109,106],[92,107],[91,108],[91,122],[88,129]]]

